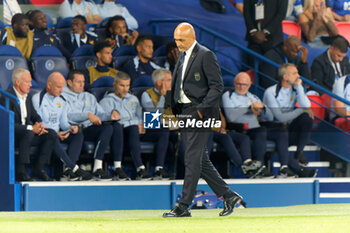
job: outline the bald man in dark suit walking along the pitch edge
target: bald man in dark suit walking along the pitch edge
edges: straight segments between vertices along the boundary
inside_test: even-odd
[[[180,56],[172,80],[171,107],[180,121],[204,122],[219,119],[219,101],[223,91],[220,67],[213,52],[196,41],[192,25],[181,23],[174,32]],[[181,114],[181,115],[179,115]],[[215,194],[224,197],[224,210],[220,216],[233,212],[242,197],[233,192],[210,162],[206,144],[210,128],[182,129],[185,142],[185,180],[180,203],[163,217],[190,217],[188,209],[202,177]]]

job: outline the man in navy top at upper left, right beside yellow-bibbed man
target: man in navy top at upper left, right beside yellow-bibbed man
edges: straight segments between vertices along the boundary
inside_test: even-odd
[[[41,46],[54,46],[58,48],[61,53],[68,57],[70,52],[61,44],[61,40],[47,29],[47,19],[45,14],[40,10],[30,11],[28,14],[29,23],[31,25],[33,38],[33,52]]]

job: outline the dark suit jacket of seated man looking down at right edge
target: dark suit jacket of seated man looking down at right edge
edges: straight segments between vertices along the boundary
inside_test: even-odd
[[[332,64],[329,62],[327,51],[328,50],[315,58],[313,61],[311,66],[311,77],[312,81],[332,91],[335,74]],[[340,63],[340,68],[343,75],[350,74],[350,63],[347,56],[345,56],[343,61]]]

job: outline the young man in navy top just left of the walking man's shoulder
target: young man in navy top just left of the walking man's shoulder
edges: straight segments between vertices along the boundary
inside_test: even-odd
[[[148,36],[139,36],[135,42],[137,56],[128,60],[122,71],[128,73],[131,82],[134,82],[140,76],[152,75],[153,71],[161,68],[152,61],[153,57],[153,41]]]

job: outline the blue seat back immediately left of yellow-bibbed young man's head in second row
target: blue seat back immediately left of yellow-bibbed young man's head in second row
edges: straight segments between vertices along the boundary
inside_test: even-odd
[[[95,64],[96,56],[92,45],[83,45],[80,48],[77,48],[70,58],[71,68],[75,70],[84,70]]]

